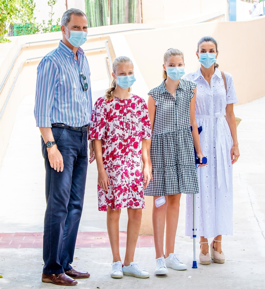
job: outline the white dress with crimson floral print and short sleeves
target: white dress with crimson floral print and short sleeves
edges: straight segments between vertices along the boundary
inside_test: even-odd
[[[102,140],[103,164],[110,179],[108,191],[98,189],[99,211],[144,209],[142,138],[151,139],[144,99],[100,97],[94,106],[89,137]]]

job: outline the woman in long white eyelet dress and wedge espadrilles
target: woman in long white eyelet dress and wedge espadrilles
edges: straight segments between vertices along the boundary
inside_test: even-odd
[[[199,259],[201,264],[208,265],[210,258],[216,263],[225,262],[221,249],[222,235],[233,234],[232,165],[239,158],[233,105],[238,100],[232,75],[224,72],[223,77],[216,64],[216,40],[209,36],[201,38],[196,55],[201,67],[185,75],[184,79],[197,84],[195,118],[198,127],[203,128],[199,137],[201,149],[208,159],[204,170],[197,170],[199,194],[196,196],[196,228],[201,244]],[[192,195],[187,195],[185,234],[191,238],[192,199]],[[214,238],[210,244],[211,256],[208,238]]]

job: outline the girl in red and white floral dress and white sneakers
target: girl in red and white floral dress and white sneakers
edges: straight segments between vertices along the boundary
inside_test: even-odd
[[[149,273],[134,262],[142,209],[145,208],[143,190],[151,179],[146,146],[146,139],[151,138],[151,125],[145,101],[130,93],[135,81],[133,69],[128,57],[114,60],[112,86],[95,103],[89,133],[98,169],[99,211],[107,211],[113,255],[112,278],[123,275],[149,277]],[[127,208],[128,212],[123,264],[119,252],[121,208]]]

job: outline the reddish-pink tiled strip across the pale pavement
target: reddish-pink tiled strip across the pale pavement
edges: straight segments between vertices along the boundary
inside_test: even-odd
[[[43,233],[0,233],[0,248],[42,248]],[[126,232],[120,232],[120,247],[126,247]],[[110,247],[108,232],[78,232],[75,248]],[[141,235],[136,247],[154,247],[153,236]]]

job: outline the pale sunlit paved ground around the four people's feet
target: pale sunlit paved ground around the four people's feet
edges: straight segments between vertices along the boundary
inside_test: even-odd
[[[101,92],[97,93],[95,98]],[[125,276],[116,280],[110,277],[110,248],[77,245],[73,266],[91,273],[89,279],[78,281],[77,288],[264,288],[264,101],[262,98],[235,107],[236,116],[243,119],[238,127],[241,156],[234,166],[234,235],[223,237],[225,264],[198,264],[197,269],[191,268],[192,240],[184,236],[185,196],[182,196],[175,253],[179,253],[181,260],[188,264],[188,270],[169,269],[167,276],[155,276],[154,247],[141,247],[141,244],[150,242],[148,236],[146,241],[140,240],[135,261],[150,272],[150,278]],[[45,211],[44,165],[40,134],[34,127],[33,103],[34,96],[26,97],[21,103],[0,169],[0,232],[22,232],[25,238],[30,232],[41,234]],[[93,163],[88,168],[86,198],[79,227],[83,233],[79,234],[106,231],[105,213],[97,211],[96,179],[96,165]],[[123,210],[121,231],[126,230],[126,223],[126,210]],[[3,241],[2,235],[0,242]],[[31,247],[1,249],[1,289],[58,288],[40,281],[42,249]],[[125,247],[121,247],[121,255],[124,253]]]

